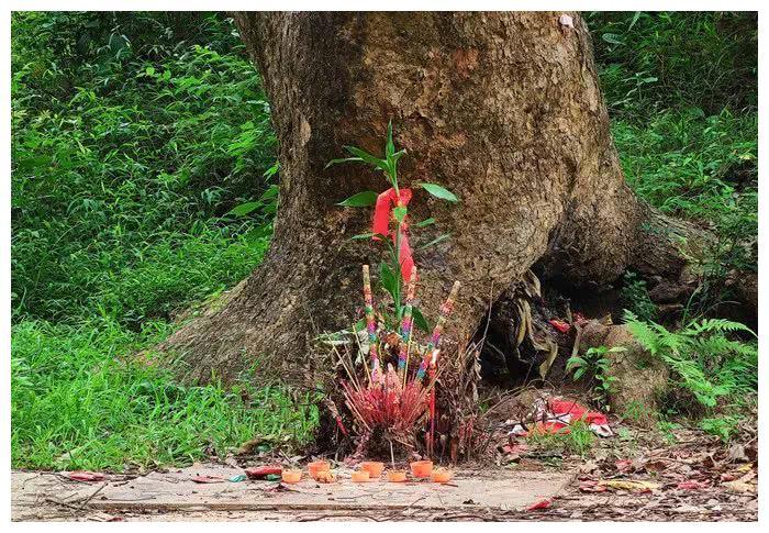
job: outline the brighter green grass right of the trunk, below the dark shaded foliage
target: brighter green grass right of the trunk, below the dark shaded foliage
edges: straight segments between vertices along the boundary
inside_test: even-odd
[[[646,201],[717,238],[710,267],[758,269],[758,115],[668,110],[647,123],[615,120],[625,177]]]

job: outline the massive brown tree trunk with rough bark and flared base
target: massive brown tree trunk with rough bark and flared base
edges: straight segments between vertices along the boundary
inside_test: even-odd
[[[343,146],[382,153],[387,123],[406,185],[434,181],[461,202],[416,192],[421,307],[435,317],[454,280],[449,333],[467,338],[532,265],[591,290],[634,265],[677,276],[683,263],[664,219],[627,185],[612,144],[591,42],[569,13],[238,13],[280,141],[280,207],[264,264],[218,312],[167,343],[193,376],[225,378],[257,363],[289,380],[312,371],[309,338],[349,326],[360,265],[381,247],[350,241],[369,210],[335,203],[383,190],[381,174],[325,164]],[[686,230],[683,230],[686,231]]]

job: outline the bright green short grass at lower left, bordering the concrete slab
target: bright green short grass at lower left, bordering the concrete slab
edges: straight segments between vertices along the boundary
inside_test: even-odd
[[[310,438],[317,409],[307,395],[248,380],[235,390],[183,386],[168,362],[135,355],[167,332],[161,322],[138,334],[114,322],[14,326],[13,466],[121,470],[223,458],[255,435]]]

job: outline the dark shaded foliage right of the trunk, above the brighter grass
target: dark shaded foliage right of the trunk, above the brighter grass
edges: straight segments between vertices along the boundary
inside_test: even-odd
[[[758,13],[623,11],[587,20],[612,115],[757,109]]]

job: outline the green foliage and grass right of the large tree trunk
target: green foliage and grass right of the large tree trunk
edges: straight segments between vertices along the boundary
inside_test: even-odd
[[[631,186],[712,230],[703,307],[758,264],[756,13],[592,13],[595,59]]]

